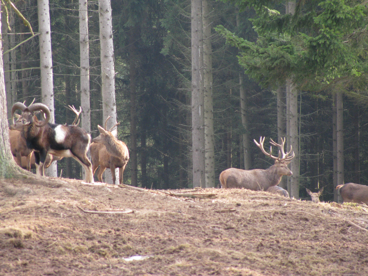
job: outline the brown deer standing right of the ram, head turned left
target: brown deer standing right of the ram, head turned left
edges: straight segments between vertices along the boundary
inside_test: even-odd
[[[90,146],[93,164],[92,173],[95,174],[97,167],[100,166],[97,178],[102,182],[102,173],[106,168],[110,168],[113,183],[115,184],[115,168],[119,168],[119,184],[123,184],[123,173],[129,160],[129,152],[127,145],[125,145],[123,141],[119,141],[115,138],[117,131],[111,131],[119,123],[109,130],[106,130],[106,123],[109,118],[110,116],[105,121],[105,128],[102,128],[99,125],[97,126],[100,131],[100,135],[92,140],[93,143]]]

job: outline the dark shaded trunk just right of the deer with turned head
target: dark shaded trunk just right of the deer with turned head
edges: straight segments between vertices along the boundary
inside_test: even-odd
[[[137,28],[129,30],[129,78],[130,78],[130,168],[131,185],[137,186],[137,54],[135,42]]]

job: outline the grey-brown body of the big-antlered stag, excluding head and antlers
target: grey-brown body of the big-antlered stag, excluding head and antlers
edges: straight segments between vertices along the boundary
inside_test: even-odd
[[[281,177],[277,174],[275,165],[266,170],[241,170],[230,168],[220,174],[222,188],[245,188],[252,191],[266,191],[271,186],[280,183]]]

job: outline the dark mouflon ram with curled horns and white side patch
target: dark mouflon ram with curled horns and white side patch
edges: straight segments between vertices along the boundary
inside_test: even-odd
[[[22,116],[14,123],[15,110],[21,110]],[[39,121],[36,112],[45,113],[45,120]],[[45,175],[45,160],[47,153],[60,157],[72,157],[77,160],[86,171],[85,181],[93,183],[92,164],[87,158],[87,151],[91,143],[91,136],[82,128],[75,125],[61,125],[49,123],[50,110],[42,103],[33,103],[26,107],[17,102],[11,109],[13,125],[20,130],[27,147],[35,152],[36,173]]]

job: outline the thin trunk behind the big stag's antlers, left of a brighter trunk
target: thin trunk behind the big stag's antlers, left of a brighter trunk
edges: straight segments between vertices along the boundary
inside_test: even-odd
[[[285,91],[282,87],[277,88],[276,98],[277,98],[277,142],[280,144],[282,143],[281,139],[286,135]],[[286,176],[283,176],[279,183],[279,186],[285,190],[287,190],[286,179],[287,179]]]

